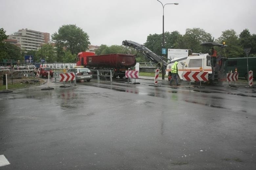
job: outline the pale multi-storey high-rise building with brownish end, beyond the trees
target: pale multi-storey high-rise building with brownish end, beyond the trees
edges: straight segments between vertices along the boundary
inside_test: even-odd
[[[12,35],[9,35],[8,39],[16,39],[17,43],[24,51],[38,50],[45,43],[50,40],[50,33],[43,33],[39,31],[20,29]]]

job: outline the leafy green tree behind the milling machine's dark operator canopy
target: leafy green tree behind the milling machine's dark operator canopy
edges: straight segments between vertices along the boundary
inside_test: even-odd
[[[226,55],[227,58],[235,58],[244,56],[243,47],[240,45],[238,36],[236,35],[235,30],[225,30],[222,32],[221,37],[217,39],[218,43],[225,42],[227,47],[225,48],[225,54],[221,52],[222,55]],[[218,53],[219,54],[219,53]]]

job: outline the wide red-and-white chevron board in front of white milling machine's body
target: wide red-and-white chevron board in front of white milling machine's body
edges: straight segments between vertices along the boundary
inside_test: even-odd
[[[208,72],[183,71],[185,81],[208,81]]]

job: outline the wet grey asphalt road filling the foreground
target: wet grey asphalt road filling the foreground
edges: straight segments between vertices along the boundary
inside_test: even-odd
[[[0,170],[255,169],[254,89],[124,82],[0,94]]]

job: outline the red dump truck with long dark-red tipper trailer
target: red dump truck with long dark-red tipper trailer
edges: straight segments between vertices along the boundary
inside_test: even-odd
[[[110,75],[112,77],[119,76],[123,78],[125,71],[136,65],[135,55],[130,54],[103,54],[94,55],[91,52],[81,52],[77,55],[77,66],[84,66],[89,68],[93,74],[97,74],[96,70],[101,70],[101,75]]]

